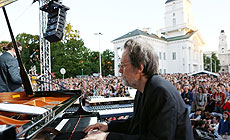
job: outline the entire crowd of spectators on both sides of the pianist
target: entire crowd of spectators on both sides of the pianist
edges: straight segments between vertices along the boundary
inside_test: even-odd
[[[216,137],[230,135],[230,74],[218,77],[208,74],[161,74],[181,94],[189,111],[193,128]],[[56,79],[52,90],[81,89],[87,96],[124,97],[128,88],[120,77],[93,77]],[[228,124],[228,125],[226,125]]]

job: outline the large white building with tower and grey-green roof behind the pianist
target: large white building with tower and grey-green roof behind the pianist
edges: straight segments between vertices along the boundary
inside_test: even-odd
[[[165,28],[159,35],[148,30],[133,30],[113,40],[115,50],[115,76],[124,43],[128,39],[143,38],[159,54],[160,73],[191,73],[203,70],[203,47],[199,31],[193,26],[192,4],[189,0],[167,0]]]

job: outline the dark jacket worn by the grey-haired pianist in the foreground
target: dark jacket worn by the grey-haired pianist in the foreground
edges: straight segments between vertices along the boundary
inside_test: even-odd
[[[159,75],[137,91],[134,116],[108,124],[107,140],[193,140],[186,105],[176,88]]]

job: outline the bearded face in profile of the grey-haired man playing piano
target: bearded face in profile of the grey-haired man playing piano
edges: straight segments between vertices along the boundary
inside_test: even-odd
[[[119,72],[122,74],[123,83],[126,86],[133,88],[136,87],[138,80],[138,77],[136,76],[137,69],[132,66],[127,50],[122,54]]]

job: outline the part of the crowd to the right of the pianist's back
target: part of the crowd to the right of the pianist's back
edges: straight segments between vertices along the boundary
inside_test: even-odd
[[[230,74],[166,74],[181,94],[190,113],[193,128],[221,139],[230,135]]]

